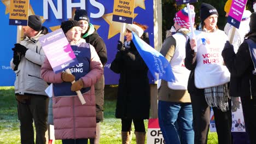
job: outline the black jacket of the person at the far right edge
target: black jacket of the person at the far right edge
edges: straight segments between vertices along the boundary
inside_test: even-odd
[[[252,39],[256,43],[256,33],[251,35],[249,39]],[[246,41],[243,41],[237,53],[234,52],[233,47],[225,47],[222,51],[222,56],[231,74],[231,96],[237,93],[235,96],[251,97],[252,92],[252,97],[256,101],[256,75],[252,73],[254,66]]]

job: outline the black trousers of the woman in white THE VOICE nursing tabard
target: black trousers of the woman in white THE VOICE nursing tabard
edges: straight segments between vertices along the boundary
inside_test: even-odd
[[[203,89],[197,89],[190,93],[193,122],[195,131],[195,143],[207,143],[208,131],[210,128],[210,106],[205,100],[205,93]],[[216,130],[218,134],[219,144],[231,144],[231,99],[229,100],[229,111],[223,112],[217,107],[212,107],[214,112],[214,119]]]

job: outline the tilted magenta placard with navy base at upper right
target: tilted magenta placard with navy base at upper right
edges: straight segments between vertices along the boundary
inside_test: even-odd
[[[243,11],[245,10],[247,0],[233,0],[229,16],[228,16],[228,23],[230,25],[239,28],[240,22],[242,20]]]

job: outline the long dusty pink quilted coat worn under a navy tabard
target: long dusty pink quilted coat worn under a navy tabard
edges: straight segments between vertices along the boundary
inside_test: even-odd
[[[91,47],[90,72],[80,79],[84,87],[91,87],[83,93],[86,104],[82,105],[77,95],[71,97],[53,97],[53,117],[55,139],[93,138],[96,133],[96,110],[94,84],[103,74],[102,64],[94,47]],[[44,81],[62,83],[61,73],[55,74],[46,58],[41,68]],[[63,89],[65,91],[65,89]]]

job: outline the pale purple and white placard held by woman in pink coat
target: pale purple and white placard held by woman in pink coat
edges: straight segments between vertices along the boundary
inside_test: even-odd
[[[61,28],[40,37],[39,41],[55,74],[78,64]]]

